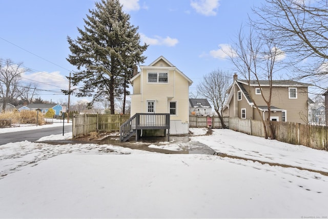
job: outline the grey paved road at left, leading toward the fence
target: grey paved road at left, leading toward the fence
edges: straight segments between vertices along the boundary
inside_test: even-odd
[[[71,132],[71,131],[72,131],[72,126],[64,127],[64,133]],[[39,140],[39,138],[41,137],[52,135],[52,134],[63,134],[63,126],[3,133],[0,134],[0,145],[5,145],[11,142],[22,142],[25,140],[29,142],[35,142]]]

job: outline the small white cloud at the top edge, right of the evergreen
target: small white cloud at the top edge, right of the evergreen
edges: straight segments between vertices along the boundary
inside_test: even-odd
[[[220,6],[219,0],[192,0],[190,5],[197,13],[206,16],[215,16]]]

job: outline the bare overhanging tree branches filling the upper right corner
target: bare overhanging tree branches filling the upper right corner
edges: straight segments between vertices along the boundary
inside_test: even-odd
[[[326,81],[328,71],[322,71],[322,65],[328,58],[328,0],[265,0],[253,11],[259,19],[253,19],[252,26],[288,53],[297,78]],[[307,58],[311,62],[301,62]]]

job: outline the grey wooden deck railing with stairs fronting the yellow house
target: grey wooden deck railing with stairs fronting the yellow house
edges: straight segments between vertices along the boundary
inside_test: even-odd
[[[120,126],[120,140],[125,142],[135,134],[138,141],[138,130],[142,129],[168,129],[170,141],[170,113],[136,113]]]

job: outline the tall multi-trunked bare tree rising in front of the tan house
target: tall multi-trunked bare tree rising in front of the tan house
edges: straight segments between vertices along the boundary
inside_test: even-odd
[[[273,75],[279,70],[277,69],[277,62],[282,58],[283,53],[277,48],[275,42],[268,38],[264,39],[258,37],[258,35],[252,30],[250,30],[249,35],[245,37],[242,33],[242,29],[240,29],[237,38],[237,43],[232,46],[232,50],[226,51],[226,53],[238,72],[243,76],[245,81],[247,81],[249,94],[253,93],[250,90],[250,84],[257,83],[257,86],[261,90],[262,99],[268,107],[267,121],[270,121]],[[268,94],[262,92],[263,84],[261,84],[261,81],[267,82],[269,86]],[[255,102],[252,95],[249,96],[254,104],[254,108],[261,117],[264,128],[264,137],[268,138],[267,127],[264,122],[265,118],[262,116],[258,103]],[[272,125],[270,125],[269,128],[271,138],[274,139],[275,136]]]

